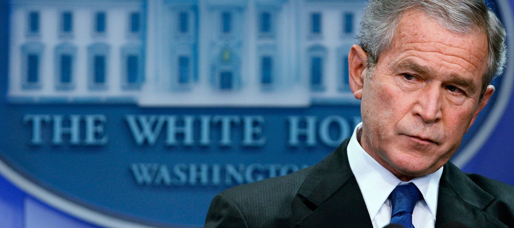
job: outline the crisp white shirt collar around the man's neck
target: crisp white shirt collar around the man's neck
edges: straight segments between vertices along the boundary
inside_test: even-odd
[[[375,218],[382,204],[386,202],[389,195],[398,184],[409,182],[414,183],[419,189],[419,192],[423,195],[423,199],[427,202],[430,212],[435,219],[439,180],[443,174],[443,167],[440,167],[435,173],[413,178],[409,182],[403,182],[375,161],[375,159],[362,148],[357,140],[357,133],[360,132],[361,128],[362,122],[355,127],[346,150],[350,168],[359,184],[371,219],[373,220]]]

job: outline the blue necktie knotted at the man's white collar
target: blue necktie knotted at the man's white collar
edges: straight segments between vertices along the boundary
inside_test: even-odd
[[[412,212],[414,205],[421,199],[419,189],[413,183],[398,185],[391,195],[391,223],[400,224],[406,228],[414,228]]]

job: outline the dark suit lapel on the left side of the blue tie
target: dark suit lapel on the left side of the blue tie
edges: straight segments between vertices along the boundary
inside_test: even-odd
[[[369,227],[370,215],[355,179],[346,146],[350,139],[320,163],[305,178],[298,194],[313,211],[298,227]]]

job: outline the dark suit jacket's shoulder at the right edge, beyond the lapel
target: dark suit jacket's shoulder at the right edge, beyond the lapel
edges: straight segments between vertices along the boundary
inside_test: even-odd
[[[494,198],[508,202],[514,206],[514,186],[484,177],[479,174],[466,174],[476,185],[492,195]]]

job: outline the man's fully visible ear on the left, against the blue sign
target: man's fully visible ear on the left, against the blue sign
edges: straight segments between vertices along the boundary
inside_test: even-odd
[[[350,53],[348,53],[348,82],[350,82],[354,97],[359,100],[362,99],[367,59],[368,54],[359,45],[352,45]]]

